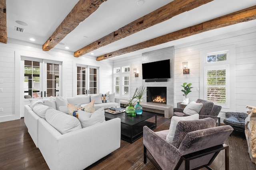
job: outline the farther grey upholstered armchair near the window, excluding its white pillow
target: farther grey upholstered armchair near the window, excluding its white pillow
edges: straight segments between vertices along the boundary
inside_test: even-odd
[[[218,114],[220,113],[220,110],[222,109],[222,106],[218,106],[214,104],[213,102],[197,99],[196,103],[202,103],[202,109],[199,112],[199,119],[203,119],[206,117],[211,117],[215,121],[218,120],[218,126],[220,126],[220,117],[218,117]],[[189,116],[188,114],[183,112],[184,108],[174,108],[173,109],[173,115],[174,116]]]

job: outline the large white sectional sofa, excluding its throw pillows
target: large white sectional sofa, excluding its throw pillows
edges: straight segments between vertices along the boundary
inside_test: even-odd
[[[68,101],[77,102],[79,97],[85,99],[85,96],[76,96],[69,98]],[[46,99],[44,100],[44,104],[47,103],[46,101],[49,102],[49,100]],[[43,106],[42,102],[38,102],[38,104],[41,104],[40,107],[42,108],[40,112],[45,114],[42,116],[42,114],[36,113],[35,103],[36,102],[33,101],[32,104],[25,106],[24,122],[32,140],[36,147],[40,149],[40,152],[51,170],[82,170],[120,147],[121,123],[119,118],[108,121],[104,120],[100,123],[84,128],[81,127],[78,130],[72,130],[63,134],[57,130],[58,128],[54,128],[55,125],[50,124],[52,122],[48,121],[47,115],[53,112],[55,115],[56,112],[62,116],[72,118],[72,121],[68,121],[67,124],[73,122],[73,120],[77,121],[78,119],[60,110],[55,110],[56,108],[52,109],[54,106],[48,108],[49,106]],[[54,104],[53,101],[50,101],[50,103]],[[76,103],[73,104],[75,105]],[[112,102],[112,105],[106,103],[106,105],[108,105],[106,108],[116,106],[116,104],[118,103]],[[34,108],[34,110],[30,107],[31,105],[33,105],[32,108]],[[56,103],[56,107],[58,107],[58,105],[59,104]],[[95,107],[97,108],[98,106],[95,104]],[[98,110],[104,111],[103,108]]]

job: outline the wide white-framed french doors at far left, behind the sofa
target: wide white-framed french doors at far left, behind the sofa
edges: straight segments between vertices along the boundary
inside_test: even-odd
[[[21,106],[29,104],[29,99],[61,96],[60,70],[61,62],[22,57]],[[24,109],[21,111],[21,117],[24,117]]]

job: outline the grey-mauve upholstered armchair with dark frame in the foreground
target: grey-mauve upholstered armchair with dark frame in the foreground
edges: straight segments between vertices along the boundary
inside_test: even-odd
[[[144,163],[148,158],[159,170],[211,169],[209,165],[221,150],[225,150],[225,168],[228,170],[229,147],[224,141],[232,131],[230,125],[215,127],[215,121],[210,117],[179,121],[174,140],[169,143],[166,141],[169,130],[154,132],[144,126]]]

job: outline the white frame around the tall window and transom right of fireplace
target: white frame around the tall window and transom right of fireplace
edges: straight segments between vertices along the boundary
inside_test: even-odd
[[[227,58],[226,61],[216,61],[207,63],[207,55],[209,54],[220,54],[227,52]],[[235,100],[235,86],[232,86],[232,84],[235,84],[235,59],[236,59],[236,46],[235,45],[227,45],[227,46],[221,46],[211,49],[206,49],[200,51],[200,98],[206,100],[206,82],[205,82],[205,68],[212,67],[216,70],[218,66],[226,66],[228,67],[226,69],[226,77],[228,77],[229,80],[226,80],[226,83],[228,84],[228,87],[226,88],[226,105],[222,107],[222,111],[230,111],[233,110],[236,106],[236,100]],[[215,68],[214,68],[215,67]],[[220,103],[216,103],[217,105],[221,105]]]

